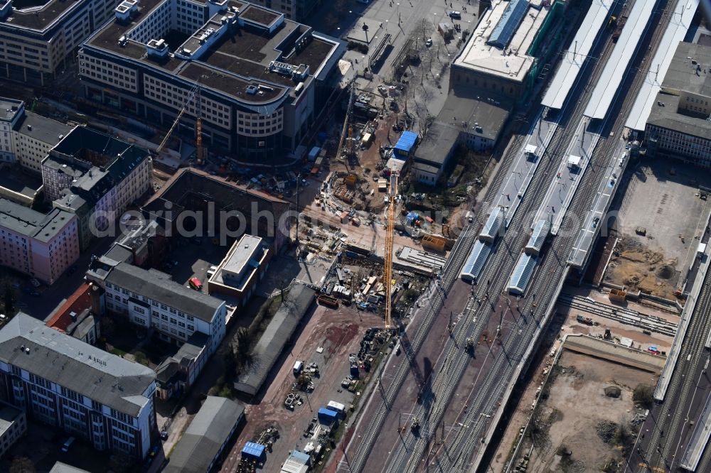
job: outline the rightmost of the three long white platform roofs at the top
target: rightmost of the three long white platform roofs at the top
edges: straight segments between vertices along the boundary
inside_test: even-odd
[[[674,52],[681,40],[689,31],[691,20],[699,6],[699,0],[682,0],[669,19],[664,35],[657,47],[644,82],[642,82],[637,98],[634,101],[625,126],[629,129],[643,131],[651,112],[654,100],[661,89],[664,76],[674,58]]]

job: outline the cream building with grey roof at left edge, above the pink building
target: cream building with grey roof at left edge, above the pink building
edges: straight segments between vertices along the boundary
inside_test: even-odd
[[[0,162],[40,173],[42,160],[72,126],[25,109],[22,100],[0,97]]]

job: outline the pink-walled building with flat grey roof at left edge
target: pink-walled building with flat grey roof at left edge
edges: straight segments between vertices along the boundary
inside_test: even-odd
[[[47,284],[79,257],[77,217],[48,214],[0,198],[0,264]]]

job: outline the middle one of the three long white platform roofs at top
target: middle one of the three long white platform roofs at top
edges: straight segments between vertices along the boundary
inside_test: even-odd
[[[584,116],[603,119],[607,114],[612,99],[622,83],[622,78],[629,70],[629,63],[637,50],[639,40],[647,28],[656,4],[655,0],[636,0],[634,2],[617,44],[607,59],[602,75],[592,91],[589,102],[587,102]]]

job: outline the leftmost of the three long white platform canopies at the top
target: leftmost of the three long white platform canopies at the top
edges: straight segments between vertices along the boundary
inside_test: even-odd
[[[580,23],[580,28],[575,34],[570,50],[565,52],[558,70],[555,72],[553,80],[550,82],[547,92],[543,97],[542,104],[552,109],[562,109],[565,98],[570,93],[577,76],[582,69],[582,65],[592,50],[592,45],[600,31],[600,28],[609,18],[610,9],[614,0],[593,0],[585,15],[585,19]]]

